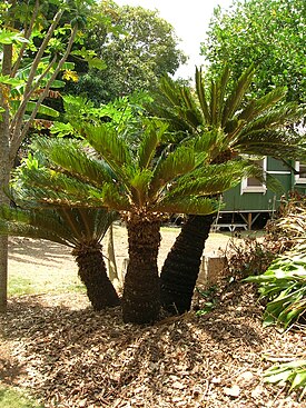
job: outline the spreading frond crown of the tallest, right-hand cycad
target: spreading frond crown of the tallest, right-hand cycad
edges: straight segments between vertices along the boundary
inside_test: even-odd
[[[289,126],[303,118],[304,111],[297,103],[280,103],[286,89],[276,88],[264,97],[250,98],[253,66],[243,71],[234,87],[233,78],[228,66],[214,80],[196,69],[196,89],[193,90],[165,77],[148,110],[169,121],[179,132],[178,140],[186,133],[223,129],[219,138],[207,141],[211,146],[211,160],[218,162],[238,153],[305,158],[304,138]]]

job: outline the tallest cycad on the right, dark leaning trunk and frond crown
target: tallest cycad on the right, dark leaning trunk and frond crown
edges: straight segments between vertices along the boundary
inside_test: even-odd
[[[148,109],[170,123],[177,132],[176,142],[218,131],[220,137],[211,146],[213,163],[225,163],[241,153],[305,159],[305,141],[289,127],[302,118],[302,109],[295,103],[278,103],[286,93],[284,88],[247,100],[254,74],[250,67],[234,82],[225,67],[220,77],[207,83],[196,69],[194,90],[164,78]],[[269,175],[266,177],[269,181]],[[168,253],[160,275],[161,300],[168,310],[184,312],[190,308],[211,222],[211,216],[188,217]]]

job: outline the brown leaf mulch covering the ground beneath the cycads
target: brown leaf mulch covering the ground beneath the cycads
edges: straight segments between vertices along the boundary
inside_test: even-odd
[[[306,332],[263,329],[251,286],[234,283],[215,310],[125,325],[82,295],[11,298],[0,317],[0,385],[46,408],[306,407],[300,392],[263,381],[264,355],[305,355]]]

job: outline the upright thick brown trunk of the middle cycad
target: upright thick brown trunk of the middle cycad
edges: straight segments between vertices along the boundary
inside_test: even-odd
[[[151,324],[160,310],[157,267],[160,222],[134,216],[127,228],[129,265],[122,297],[124,321]]]

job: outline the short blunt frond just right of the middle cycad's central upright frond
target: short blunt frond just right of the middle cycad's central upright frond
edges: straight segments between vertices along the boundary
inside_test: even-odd
[[[166,159],[164,156],[161,156],[154,169],[150,195],[155,195],[155,192],[168,181],[180,175],[191,171],[194,168],[194,149],[178,147],[174,152],[169,153]]]

